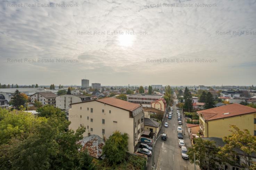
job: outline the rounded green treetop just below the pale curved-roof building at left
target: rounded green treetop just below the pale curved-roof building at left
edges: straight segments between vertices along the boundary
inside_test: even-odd
[[[56,108],[56,107],[53,107],[51,105],[45,105],[43,107],[40,107],[36,110],[37,112],[39,112],[38,116],[39,117],[51,117],[52,115],[56,115],[58,117],[66,117],[66,114],[61,111],[60,108]]]

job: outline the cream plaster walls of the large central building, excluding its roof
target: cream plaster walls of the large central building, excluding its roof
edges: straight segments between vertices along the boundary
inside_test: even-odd
[[[142,134],[141,127],[144,127],[143,112],[135,118],[130,118],[129,111],[109,106],[98,101],[83,102],[71,106],[71,109],[69,109],[69,121],[71,121],[69,129],[75,131],[80,125],[84,125],[86,132],[83,136],[88,136],[88,133],[90,133],[96,134],[101,138],[108,138],[115,131],[127,133],[129,136],[129,153],[134,152],[134,146],[138,143],[138,139]],[[93,109],[93,113],[91,113],[91,108]],[[102,113],[102,109],[104,109],[104,113]],[[109,113],[109,110],[111,110],[111,113]],[[140,120],[138,125],[138,119],[141,118],[143,118],[143,122]],[[91,122],[91,119],[93,119],[93,122]],[[102,119],[105,119],[105,124],[102,124]],[[93,131],[91,131],[91,128],[93,128]],[[105,134],[102,134],[102,129],[105,129]],[[140,129],[139,135],[138,129]],[[137,140],[135,138],[137,138]]]

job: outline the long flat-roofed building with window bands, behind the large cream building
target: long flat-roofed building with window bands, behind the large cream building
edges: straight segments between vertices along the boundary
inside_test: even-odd
[[[143,107],[151,107],[151,102],[164,98],[164,95],[147,95],[142,93],[136,93],[133,95],[127,95],[127,101],[137,103]]]

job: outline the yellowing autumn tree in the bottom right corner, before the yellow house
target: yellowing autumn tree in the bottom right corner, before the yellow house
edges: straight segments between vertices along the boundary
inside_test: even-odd
[[[243,168],[253,170],[256,168],[256,162],[251,159],[249,155],[256,152],[256,137],[251,135],[247,129],[241,131],[237,126],[231,125],[232,134],[223,137],[226,143],[219,152],[221,155],[226,156],[229,160],[236,163],[236,156],[240,157],[240,163]],[[241,150],[242,154],[238,154],[237,149]]]

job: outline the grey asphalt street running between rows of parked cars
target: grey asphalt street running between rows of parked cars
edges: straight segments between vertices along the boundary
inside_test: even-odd
[[[167,140],[162,141],[161,137],[156,142],[155,145],[155,169],[157,170],[193,170],[195,169],[194,164],[191,164],[189,160],[185,160],[181,157],[181,150],[179,147],[177,127],[182,126],[184,134],[185,146],[188,148],[191,146],[191,140],[189,138],[188,129],[185,128],[185,119],[183,114],[182,123],[183,125],[178,125],[178,115],[176,106],[173,105],[173,116],[172,119],[165,118],[164,122],[168,122],[168,127],[161,128],[159,134],[167,134]],[[180,110],[181,112],[181,110]],[[163,123],[164,124],[164,123]],[[152,158],[148,159],[148,167],[150,170],[152,166]],[[196,167],[199,169],[199,167]]]

